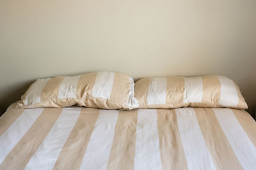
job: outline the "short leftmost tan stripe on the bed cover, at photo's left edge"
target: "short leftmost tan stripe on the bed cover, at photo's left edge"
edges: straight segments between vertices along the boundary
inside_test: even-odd
[[[0,119],[0,136],[15,122],[24,109],[10,108]]]

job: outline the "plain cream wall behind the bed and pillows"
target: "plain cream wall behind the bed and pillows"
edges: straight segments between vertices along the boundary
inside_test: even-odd
[[[255,0],[0,0],[0,106],[36,78],[222,74],[256,106]]]

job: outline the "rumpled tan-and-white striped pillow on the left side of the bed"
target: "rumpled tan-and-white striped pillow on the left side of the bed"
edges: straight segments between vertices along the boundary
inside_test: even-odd
[[[72,105],[131,109],[134,81],[121,73],[98,72],[36,80],[18,103],[19,108],[61,108]]]

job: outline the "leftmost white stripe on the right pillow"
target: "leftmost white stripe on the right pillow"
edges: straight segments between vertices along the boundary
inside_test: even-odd
[[[150,78],[147,97],[148,105],[166,103],[166,86],[167,80],[165,77]]]

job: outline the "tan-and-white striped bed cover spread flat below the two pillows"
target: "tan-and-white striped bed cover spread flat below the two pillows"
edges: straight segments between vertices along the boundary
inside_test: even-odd
[[[256,124],[230,108],[10,107],[0,169],[256,169]]]

